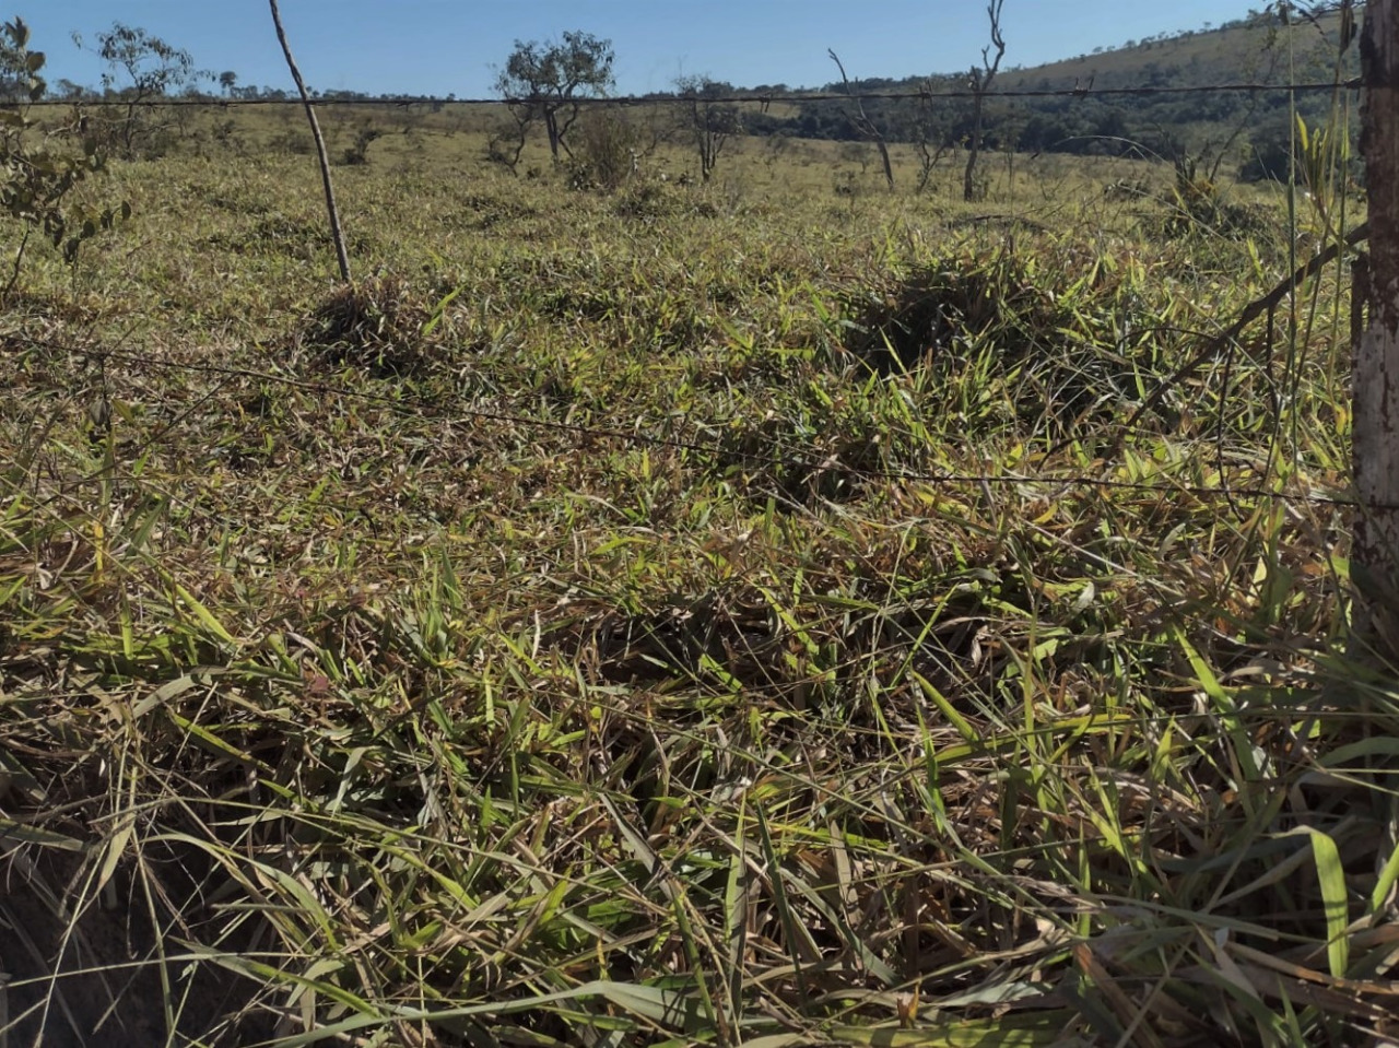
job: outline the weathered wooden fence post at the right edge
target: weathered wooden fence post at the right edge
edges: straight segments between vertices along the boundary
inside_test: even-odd
[[[1368,637],[1361,641],[1389,648],[1395,631],[1375,616],[1393,602],[1399,579],[1399,0],[1367,6],[1360,59],[1370,196],[1368,280],[1360,284],[1370,288],[1370,316],[1354,347],[1353,470],[1360,508],[1351,561],[1358,569],[1353,581],[1367,597],[1360,621]],[[1363,309],[1364,302],[1353,308]]]

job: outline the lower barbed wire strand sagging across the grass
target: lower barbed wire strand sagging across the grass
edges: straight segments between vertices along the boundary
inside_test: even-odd
[[[361,389],[353,389],[350,386],[337,386],[329,382],[308,381],[292,378],[288,375],[278,375],[276,372],[257,371],[256,368],[236,368],[221,364],[206,364],[194,361],[173,361],[154,355],[126,353],[122,350],[112,350],[102,346],[69,346],[64,343],[56,343],[52,340],[32,339],[22,334],[6,334],[6,341],[18,343],[29,346],[32,348],[55,350],[59,353],[66,353],[74,357],[88,357],[99,361],[115,361],[120,364],[130,364],[139,367],[151,368],[165,368],[172,371],[187,371],[197,374],[220,375],[224,378],[246,378],[259,382],[271,382],[283,385],[292,389],[299,389],[302,392],[339,396],[346,399],[358,400],[362,403],[374,403],[379,407],[385,407],[389,411],[411,418],[422,418],[428,421],[445,423],[452,427],[464,425],[467,423],[501,423],[512,427],[547,430],[553,432],[564,432],[575,437],[586,437],[590,439],[613,439],[624,441],[635,445],[644,445],[649,448],[665,448],[672,451],[694,452],[706,456],[713,456],[718,459],[750,462],[754,465],[771,465],[772,453],[785,455],[789,463],[802,465],[818,470],[825,474],[841,474],[848,477],[858,477],[862,480],[872,481],[886,481],[886,483],[921,483],[930,486],[947,486],[947,487],[1014,487],[1024,484],[1058,487],[1060,490],[1067,488],[1093,488],[1105,491],[1135,491],[1140,494],[1154,494],[1154,495],[1193,495],[1196,498],[1219,498],[1233,502],[1234,500],[1242,498],[1260,498],[1276,502],[1298,504],[1298,505],[1322,505],[1343,509],[1356,509],[1364,507],[1368,511],[1399,511],[1399,504],[1361,504],[1354,498],[1346,498],[1340,495],[1318,495],[1307,491],[1277,491],[1267,487],[1210,487],[1205,484],[1182,484],[1182,483],[1168,483],[1168,484],[1151,484],[1144,481],[1133,480],[1115,480],[1111,477],[1090,477],[1084,474],[1074,476],[1052,476],[1052,474],[1009,474],[1009,473],[953,473],[953,472],[926,472],[926,470],[904,470],[904,469],[870,469],[863,466],[856,466],[853,463],[842,462],[838,453],[832,453],[830,449],[810,448],[792,444],[783,444],[781,441],[771,441],[767,453],[758,452],[744,452],[737,448],[726,446],[718,442],[702,442],[679,439],[673,437],[662,437],[655,432],[648,432],[645,430],[621,430],[616,427],[596,427],[585,425],[581,423],[558,421],[551,418],[539,418],[533,416],[513,414],[509,411],[494,411],[487,409],[459,409],[455,413],[443,414],[439,404],[431,403],[425,399],[417,399],[416,403],[404,403],[403,397],[390,397],[381,393],[371,393]],[[704,423],[700,428],[723,428],[727,425],[725,421]],[[98,479],[94,476],[94,480]]]

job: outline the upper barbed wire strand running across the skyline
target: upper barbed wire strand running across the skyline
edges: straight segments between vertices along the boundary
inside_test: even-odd
[[[1196,95],[1196,94],[1258,94],[1258,92],[1291,92],[1291,94],[1316,94],[1323,91],[1358,91],[1364,87],[1360,77],[1353,77],[1350,80],[1340,81],[1314,81],[1314,83],[1300,83],[1300,84],[1255,84],[1255,83],[1240,83],[1240,84],[1177,84],[1177,85],[1161,85],[1161,84],[1137,84],[1132,87],[1095,87],[1090,80],[1087,84],[1074,84],[1073,87],[1045,87],[1045,88],[1010,88],[1000,91],[986,91],[977,92],[971,88],[961,90],[923,90],[923,91],[809,91],[800,94],[753,94],[751,91],[737,91],[733,94],[704,94],[704,95],[688,95],[688,94],[648,94],[648,95],[603,95],[603,97],[589,97],[589,98],[572,98],[569,105],[581,106],[644,106],[644,105],[676,105],[684,102],[712,102],[725,105],[778,105],[778,104],[803,104],[803,102],[848,102],[852,98],[860,98],[865,101],[884,101],[884,102],[916,102],[929,99],[975,99],[979,97],[983,101],[993,102],[996,99],[1004,98],[1102,98],[1109,95]],[[537,104],[537,99],[529,98],[455,98],[455,97],[436,97],[436,95],[381,95],[381,97],[361,97],[361,98],[346,98],[340,95],[330,97],[313,97],[312,104],[318,108],[329,106],[367,106],[367,105],[390,105],[397,108],[409,108],[417,105],[428,105],[446,108],[450,105],[463,106],[480,106],[480,105],[532,105]],[[10,102],[8,105],[14,105]],[[36,106],[67,106],[67,105],[84,105],[91,108],[109,108],[109,106],[139,106],[139,108],[155,108],[155,106],[217,106],[225,109],[243,108],[243,106],[269,106],[269,105],[301,105],[301,98],[292,94],[287,94],[281,98],[215,98],[215,97],[179,97],[179,98],[141,98],[141,99],[123,99],[120,97],[74,97],[74,98],[43,98],[31,105]]]

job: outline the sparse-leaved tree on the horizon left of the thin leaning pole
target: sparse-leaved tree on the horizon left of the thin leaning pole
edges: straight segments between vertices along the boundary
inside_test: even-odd
[[[83,46],[80,35],[73,39]],[[106,63],[102,88],[126,102],[122,115],[109,125],[122,155],[133,160],[159,151],[169,127],[154,102],[194,87],[207,74],[194,67],[194,59],[183,48],[123,22],[112,22],[111,29],[99,32],[94,52]]]

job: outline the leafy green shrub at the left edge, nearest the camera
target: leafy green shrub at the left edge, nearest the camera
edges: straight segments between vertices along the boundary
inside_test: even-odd
[[[20,18],[0,27],[0,76],[29,102],[43,97],[43,52],[29,50],[29,27]],[[0,109],[0,210],[24,225],[6,294],[14,291],[29,236],[38,232],[76,264],[85,241],[129,218],[130,204],[97,208],[77,199],[78,186],[104,171],[105,157],[84,134],[80,112],[60,127],[39,126],[28,105]],[[63,150],[77,141],[80,148]]]

